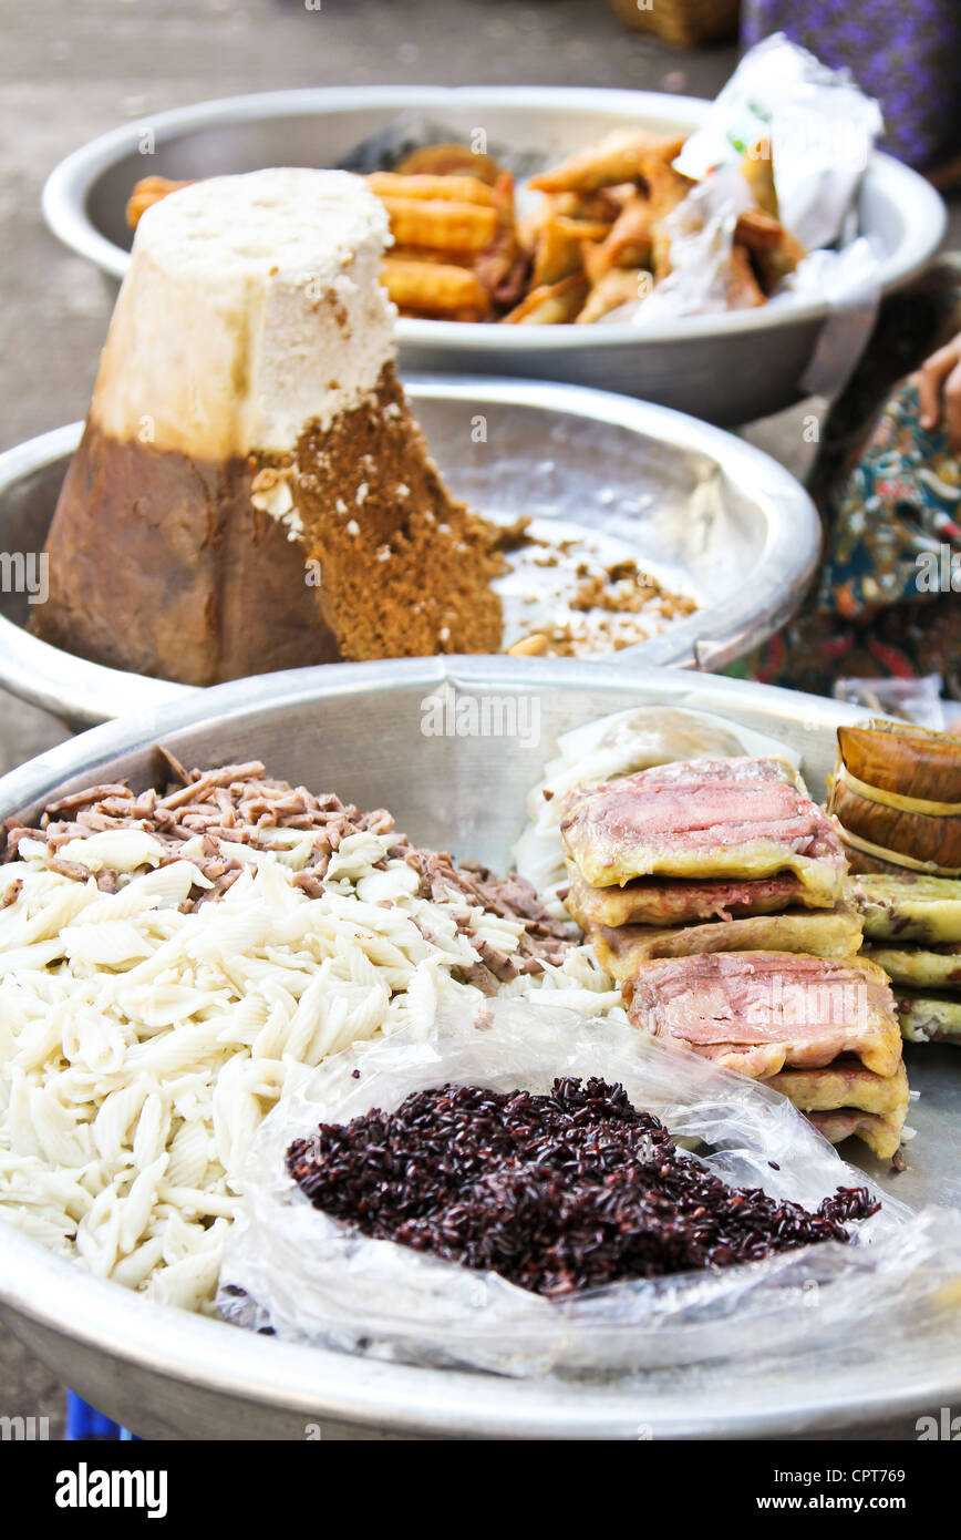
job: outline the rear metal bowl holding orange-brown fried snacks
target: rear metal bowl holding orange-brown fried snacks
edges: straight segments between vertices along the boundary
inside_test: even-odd
[[[125,206],[146,174],[186,180],[263,166],[340,163],[400,114],[416,114],[491,148],[537,148],[550,159],[642,123],[693,129],[708,108],[698,97],[651,91],[558,86],[350,86],[268,91],[202,102],[122,128],[74,151],[43,189],[52,233],[111,279],[126,271]],[[878,285],[907,282],[944,234],[944,205],[916,172],[872,156],[859,226],[882,251]],[[827,302],[687,317],[639,337],[624,325],[491,326],[400,320],[405,370],[519,374],[598,385],[690,411],[708,422],[768,416],[805,394],[802,379],[825,320]]]

